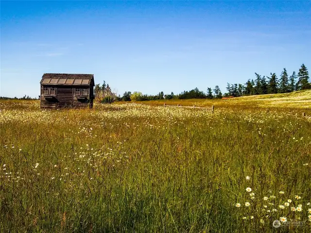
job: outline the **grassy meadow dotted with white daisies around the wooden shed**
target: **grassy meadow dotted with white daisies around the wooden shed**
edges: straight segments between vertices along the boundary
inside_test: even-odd
[[[0,101],[0,232],[309,233],[310,93],[182,102],[213,113]]]

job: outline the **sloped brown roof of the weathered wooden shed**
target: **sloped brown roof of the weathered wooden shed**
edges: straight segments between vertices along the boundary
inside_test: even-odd
[[[94,86],[94,75],[75,73],[45,73],[43,74],[40,83],[43,85]]]

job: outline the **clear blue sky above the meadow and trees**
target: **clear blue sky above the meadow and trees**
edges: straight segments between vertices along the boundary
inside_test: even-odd
[[[0,96],[43,73],[92,73],[121,94],[206,91],[311,69],[311,1],[0,1]]]

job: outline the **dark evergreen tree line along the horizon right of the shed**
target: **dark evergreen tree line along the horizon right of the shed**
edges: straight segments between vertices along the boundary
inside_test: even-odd
[[[100,88],[96,85],[97,89]],[[223,97],[239,97],[245,95],[261,95],[261,94],[276,94],[276,93],[288,93],[296,90],[308,90],[311,89],[311,83],[309,83],[309,72],[307,67],[302,64],[298,74],[293,72],[288,74],[286,68],[280,73],[279,78],[276,73],[270,73],[269,76],[261,76],[255,73],[255,79],[248,79],[245,84],[229,84],[227,83],[224,94],[220,90],[219,86],[214,89],[207,88],[207,91],[201,91],[198,88],[189,91],[183,91],[179,94],[164,94],[163,91],[157,95],[147,95],[141,92],[125,91],[122,96],[116,96],[116,101],[145,101],[145,100],[162,100],[162,99],[212,99]]]

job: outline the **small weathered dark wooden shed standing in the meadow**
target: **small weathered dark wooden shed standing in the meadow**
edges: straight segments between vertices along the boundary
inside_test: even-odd
[[[40,86],[41,108],[93,107],[93,74],[45,73]]]

